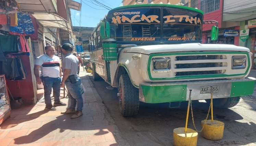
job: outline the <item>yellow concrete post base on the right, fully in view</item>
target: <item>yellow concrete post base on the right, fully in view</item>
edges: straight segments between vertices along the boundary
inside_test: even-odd
[[[204,121],[201,121],[201,127],[204,125]],[[202,131],[202,136],[208,140],[221,140],[223,138],[224,123],[221,121],[207,120],[205,127]]]

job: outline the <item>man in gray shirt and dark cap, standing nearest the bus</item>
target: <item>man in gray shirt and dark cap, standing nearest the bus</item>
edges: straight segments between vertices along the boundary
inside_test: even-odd
[[[61,51],[65,55],[65,58],[62,61],[62,66],[64,69],[62,82],[60,87],[68,89],[68,97],[70,98],[70,106],[65,112],[61,114],[74,114],[71,116],[71,119],[78,118],[83,115],[83,97],[81,94],[81,79],[77,75],[79,61],[76,56],[71,52],[73,50],[73,45],[65,43],[61,46]],[[75,106],[77,104],[77,109],[75,111]]]

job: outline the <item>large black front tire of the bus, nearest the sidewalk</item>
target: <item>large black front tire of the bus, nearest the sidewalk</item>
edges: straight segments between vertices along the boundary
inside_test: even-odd
[[[128,75],[121,75],[118,83],[119,107],[124,117],[135,116],[139,110],[139,92]]]

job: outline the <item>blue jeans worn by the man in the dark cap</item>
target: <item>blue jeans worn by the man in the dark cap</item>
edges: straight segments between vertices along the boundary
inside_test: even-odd
[[[68,90],[68,95],[70,98],[70,106],[69,109],[75,110],[75,106],[77,104],[77,111],[83,111],[83,97],[81,94],[81,79],[79,77],[76,78],[76,83],[71,83],[69,79],[65,81],[66,88]]]

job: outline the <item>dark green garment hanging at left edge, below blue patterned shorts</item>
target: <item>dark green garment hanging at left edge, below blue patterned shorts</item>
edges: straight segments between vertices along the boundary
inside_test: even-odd
[[[0,35],[0,46],[3,52],[17,53],[17,36]]]

